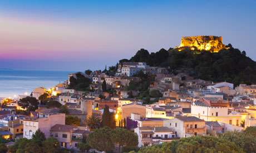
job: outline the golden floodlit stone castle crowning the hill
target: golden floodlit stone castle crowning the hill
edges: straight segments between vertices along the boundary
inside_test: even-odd
[[[186,47],[191,48],[191,50],[209,50],[211,52],[219,52],[219,50],[225,48],[222,43],[222,37],[216,37],[213,35],[200,35],[193,37],[183,37],[179,47],[179,51],[185,49]]]

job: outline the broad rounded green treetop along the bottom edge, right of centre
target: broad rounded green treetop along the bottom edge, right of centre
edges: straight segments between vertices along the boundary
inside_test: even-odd
[[[191,136],[184,137],[176,141],[141,147],[138,153],[146,152],[244,152],[241,147],[225,139],[213,136]]]

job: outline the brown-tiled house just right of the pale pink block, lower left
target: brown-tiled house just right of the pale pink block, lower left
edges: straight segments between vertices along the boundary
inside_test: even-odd
[[[50,129],[50,137],[56,138],[61,147],[77,149],[77,144],[88,135],[85,126],[56,124]]]

